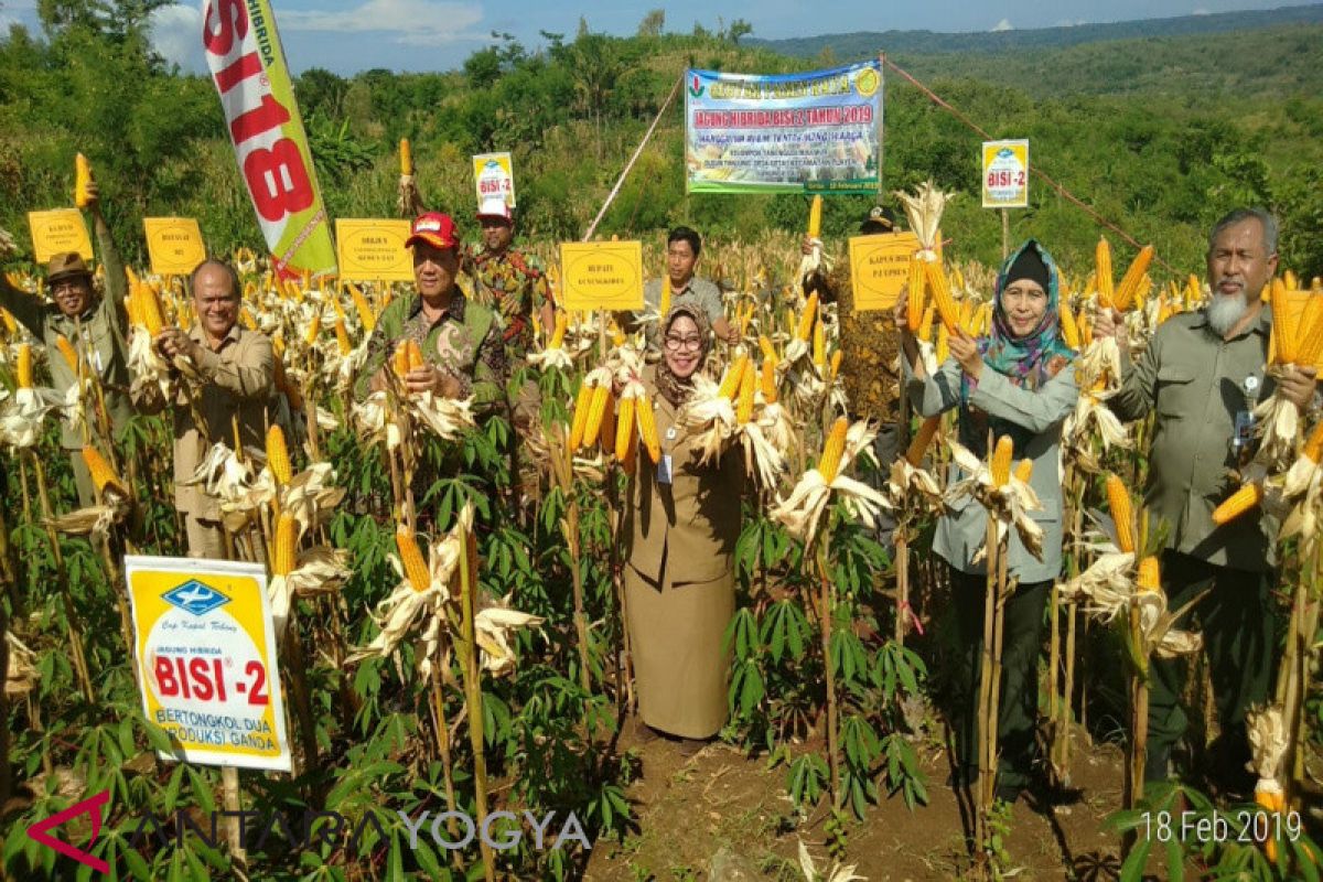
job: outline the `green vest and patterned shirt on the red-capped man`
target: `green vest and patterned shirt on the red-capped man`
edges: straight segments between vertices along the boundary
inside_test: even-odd
[[[505,348],[496,316],[480,303],[468,301],[458,288],[450,307],[433,323],[423,315],[417,294],[390,301],[368,339],[368,356],[355,385],[360,401],[368,397],[372,377],[406,340],[415,340],[423,358],[459,380],[462,397],[472,395],[476,411],[504,401]]]

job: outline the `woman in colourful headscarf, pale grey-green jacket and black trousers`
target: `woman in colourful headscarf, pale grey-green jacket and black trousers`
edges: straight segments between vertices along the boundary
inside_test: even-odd
[[[1043,528],[1041,559],[1011,530],[1007,579],[1017,582],[1005,606],[1002,656],[1002,705],[998,721],[1000,764],[996,796],[1015,801],[1029,784],[1037,715],[1037,660],[1043,610],[1061,571],[1061,424],[1078,398],[1076,353],[1061,340],[1057,267],[1035,239],[1012,254],[998,275],[992,327],[986,337],[950,340],[951,356],[934,376],[918,358],[909,333],[906,298],[896,307],[901,329],[901,366],[906,394],[922,417],[959,407],[960,443],[987,458],[988,432],[1009,435],[1015,459],[1033,460],[1031,485],[1043,510],[1031,517]],[[953,469],[958,471],[953,464]],[[962,477],[953,473],[953,480]],[[953,729],[959,767],[954,780],[976,775],[978,681],[983,651],[986,569],[974,562],[984,542],[987,514],[966,497],[938,522],[933,550],[951,575],[958,655],[951,672]]]

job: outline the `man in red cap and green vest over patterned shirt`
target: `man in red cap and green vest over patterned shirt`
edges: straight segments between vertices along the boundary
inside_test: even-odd
[[[459,235],[448,214],[429,212],[413,222],[405,247],[413,250],[417,294],[396,298],[382,311],[368,339],[357,397],[385,387],[385,370],[396,348],[415,340],[426,364],[405,377],[409,391],[433,391],[474,399],[478,411],[503,399],[504,346],[496,315],[464,298],[459,274]]]

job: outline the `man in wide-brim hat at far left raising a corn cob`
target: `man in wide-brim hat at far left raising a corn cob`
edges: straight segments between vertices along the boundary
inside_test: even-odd
[[[128,399],[128,346],[124,344],[127,317],[124,296],[128,292],[128,279],[124,275],[124,262],[115,249],[110,227],[101,214],[95,184],[89,185],[91,202],[89,210],[97,229],[97,245],[105,267],[105,292],[98,292],[93,272],[82,255],[69,251],[56,254],[46,264],[46,290],[50,303],[19,291],[0,274],[0,307],[8,309],[46,349],[46,362],[50,365],[52,387],[61,395],[67,394],[77,376],[73,365],[60,354],[56,341],[65,337],[73,344],[83,362],[83,370],[91,370],[101,381],[102,401],[106,406],[106,422],[118,440],[132,415]],[[74,481],[78,485],[81,505],[95,501],[95,488],[87,465],[79,455],[89,439],[95,439],[105,424],[97,414],[97,395],[83,397],[83,423],[78,427],[65,421],[61,427],[60,443],[70,452]],[[86,432],[86,434],[85,434]]]

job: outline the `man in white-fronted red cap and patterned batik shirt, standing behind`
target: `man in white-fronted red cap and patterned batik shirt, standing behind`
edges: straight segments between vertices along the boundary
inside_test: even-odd
[[[537,258],[511,247],[515,238],[515,216],[501,196],[483,200],[478,209],[483,238],[460,255],[462,268],[474,280],[474,296],[496,312],[505,346],[505,369],[509,377],[527,366],[533,346],[533,312],[544,328],[556,320],[550,286]],[[537,414],[537,381],[525,377],[517,397],[511,402],[515,424],[527,431]]]

